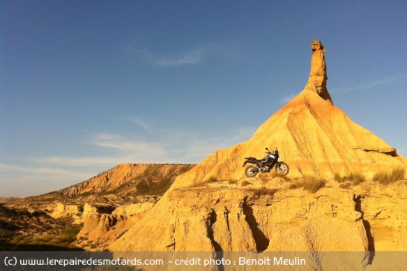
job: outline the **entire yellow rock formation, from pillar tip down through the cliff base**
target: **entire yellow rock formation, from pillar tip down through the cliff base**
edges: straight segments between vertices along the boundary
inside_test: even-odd
[[[314,41],[312,51],[312,72],[297,97],[249,141],[219,150],[179,176],[153,208],[132,217],[130,228],[109,231],[110,237],[105,233],[104,248],[111,244],[111,251],[221,251],[217,257],[228,251],[258,256],[311,251],[309,270],[335,266],[322,251],[360,251],[354,258],[337,259],[349,270],[385,260],[375,254],[378,250],[406,251],[405,181],[383,187],[368,180],[341,189],[328,179],[325,188],[311,194],[289,189],[278,177],[264,183],[244,178],[244,157],[261,157],[266,146],[279,148],[280,160],[291,166],[291,177],[332,178],[357,171],[371,178],[381,169],[406,168],[406,158],[335,107],[326,89],[321,42]]]

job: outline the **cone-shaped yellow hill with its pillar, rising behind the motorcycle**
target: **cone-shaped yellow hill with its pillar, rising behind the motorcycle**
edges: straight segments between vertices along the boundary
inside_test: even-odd
[[[326,88],[324,52],[321,42],[314,40],[305,89],[263,123],[251,139],[218,150],[174,185],[197,185],[209,178],[244,178],[244,158],[263,157],[265,147],[279,149],[280,160],[290,166],[290,177],[309,174],[332,178],[335,173],[360,172],[371,178],[379,170],[407,168],[406,158],[397,150],[335,107]]]

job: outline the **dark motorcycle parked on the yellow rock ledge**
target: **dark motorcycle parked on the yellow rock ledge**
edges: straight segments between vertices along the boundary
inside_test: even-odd
[[[275,167],[275,171],[277,173],[281,173],[283,175],[287,175],[290,171],[289,165],[284,163],[283,161],[278,161],[279,154],[277,148],[275,148],[275,152],[272,153],[268,148],[266,148],[266,157],[262,160],[258,160],[254,157],[245,157],[245,163],[243,167],[247,163],[254,164],[249,166],[245,169],[245,175],[249,178],[256,177],[257,173],[268,173]]]

